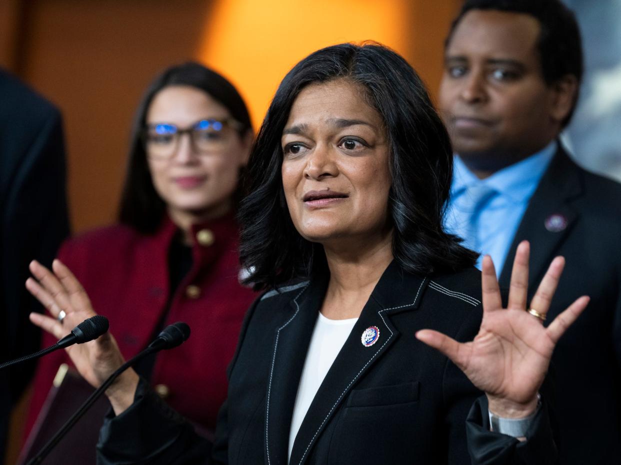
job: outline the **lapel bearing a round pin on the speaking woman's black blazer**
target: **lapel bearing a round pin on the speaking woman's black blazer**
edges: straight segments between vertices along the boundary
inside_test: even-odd
[[[404,277],[401,267],[396,262],[392,262],[386,269],[350,336],[326,374],[319,391],[315,394],[297,433],[289,461],[291,465],[306,463],[312,447],[336,412],[338,405],[355,386],[356,381],[364,376],[399,337],[388,314],[417,306],[420,294],[418,291],[423,287],[424,280],[422,278],[415,280],[417,282],[413,284],[412,275]],[[412,294],[412,288],[417,290],[415,296]],[[363,333],[369,328],[373,329],[366,334],[365,345]],[[373,339],[373,332],[377,330],[379,334]],[[306,348],[307,345],[304,347],[305,354]],[[299,380],[299,375],[296,379]]]

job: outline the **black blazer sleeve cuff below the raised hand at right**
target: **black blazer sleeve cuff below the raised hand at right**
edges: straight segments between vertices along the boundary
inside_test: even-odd
[[[532,418],[526,441],[490,431],[487,398],[479,397],[466,418],[468,450],[473,465],[555,464],[558,453],[545,400]]]

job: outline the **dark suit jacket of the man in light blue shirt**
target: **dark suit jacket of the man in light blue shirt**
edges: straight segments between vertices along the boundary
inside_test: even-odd
[[[524,239],[531,244],[531,293],[550,260],[565,257],[548,323],[579,296],[591,296],[591,303],[561,338],[551,365],[560,462],[621,463],[621,185],[578,167],[559,147],[528,204],[500,283],[509,285]],[[550,231],[552,216],[557,221],[556,228],[548,221]]]

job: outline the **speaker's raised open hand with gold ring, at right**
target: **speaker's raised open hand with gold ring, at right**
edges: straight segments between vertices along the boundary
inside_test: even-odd
[[[527,417],[535,412],[537,392],[555,345],[589,303],[587,296],[576,299],[548,327],[528,313],[529,249],[526,241],[517,248],[506,309],[502,308],[494,263],[489,256],[483,258],[483,321],[472,342],[460,343],[429,329],[416,334],[461,368],[474,386],[486,393],[489,410],[505,418]],[[531,309],[542,315],[548,312],[563,267],[563,257],[552,260],[533,296]]]

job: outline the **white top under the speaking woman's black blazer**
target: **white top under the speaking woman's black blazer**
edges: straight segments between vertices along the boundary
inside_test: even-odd
[[[306,361],[302,369],[300,384],[297,386],[296,404],[293,407],[291,417],[291,429],[289,430],[289,454],[287,462],[291,459],[291,449],[297,432],[306,417],[306,412],[311,407],[311,402],[323,383],[330,366],[337,358],[345,340],[350,335],[358,318],[347,320],[330,320],[319,312],[315,329],[312,332],[309,350],[306,353]]]

